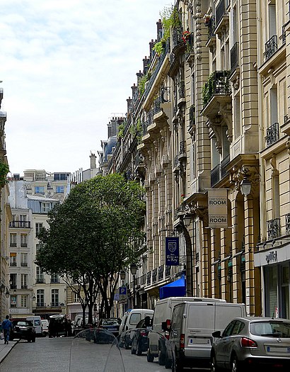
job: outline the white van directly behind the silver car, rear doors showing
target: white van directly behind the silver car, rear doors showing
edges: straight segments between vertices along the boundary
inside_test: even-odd
[[[169,345],[173,370],[210,367],[212,332],[222,331],[234,317],[245,317],[243,303],[210,302],[209,299],[175,305]]]

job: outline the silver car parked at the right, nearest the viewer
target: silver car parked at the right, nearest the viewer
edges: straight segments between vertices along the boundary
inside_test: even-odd
[[[212,336],[211,372],[289,371],[290,320],[236,317]]]

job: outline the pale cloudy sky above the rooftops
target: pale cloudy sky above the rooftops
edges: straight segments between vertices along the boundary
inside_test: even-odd
[[[1,0],[1,110],[10,171],[88,169],[127,111],[170,0]]]

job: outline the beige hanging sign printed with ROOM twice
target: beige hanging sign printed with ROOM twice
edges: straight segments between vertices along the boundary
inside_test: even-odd
[[[209,188],[207,195],[209,227],[211,229],[228,227],[228,190],[226,188]]]

